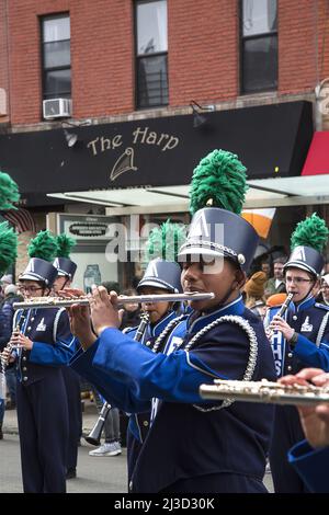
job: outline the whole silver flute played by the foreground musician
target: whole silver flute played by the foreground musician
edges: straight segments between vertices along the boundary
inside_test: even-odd
[[[135,295],[135,296],[118,296],[117,305],[124,304],[139,304],[139,302],[179,302],[183,300],[211,300],[215,298],[212,293],[188,291],[186,294],[160,294],[160,295]],[[13,309],[30,309],[30,308],[69,308],[75,304],[80,306],[89,306],[92,296],[83,297],[32,297],[22,302],[13,302]]]

